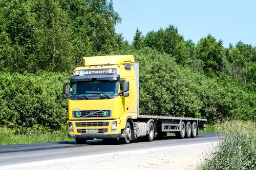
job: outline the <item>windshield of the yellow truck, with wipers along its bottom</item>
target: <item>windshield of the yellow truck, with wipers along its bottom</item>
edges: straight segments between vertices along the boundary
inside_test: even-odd
[[[70,97],[110,97],[118,92],[118,81],[86,81],[70,85]],[[103,98],[105,98],[103,97]]]

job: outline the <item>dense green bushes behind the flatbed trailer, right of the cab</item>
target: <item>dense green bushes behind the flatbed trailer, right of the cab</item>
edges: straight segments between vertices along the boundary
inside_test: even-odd
[[[169,54],[144,48],[128,51],[140,63],[140,114],[254,119],[256,94],[229,76],[209,78],[181,68]]]

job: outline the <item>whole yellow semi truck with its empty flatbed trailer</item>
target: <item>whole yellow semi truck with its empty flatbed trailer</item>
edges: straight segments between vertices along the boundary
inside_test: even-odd
[[[69,86],[69,87],[68,87]],[[128,144],[136,138],[175,133],[177,138],[198,135],[206,119],[139,114],[139,64],[132,55],[83,58],[63,98],[68,99],[68,136],[78,144],[98,138]]]

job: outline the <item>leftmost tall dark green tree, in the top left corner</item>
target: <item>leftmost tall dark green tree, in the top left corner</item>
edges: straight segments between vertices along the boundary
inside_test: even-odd
[[[0,1],[1,70],[24,72],[36,44],[35,18],[27,0]]]

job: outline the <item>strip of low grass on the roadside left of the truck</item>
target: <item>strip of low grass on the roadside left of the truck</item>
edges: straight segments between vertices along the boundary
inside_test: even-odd
[[[73,140],[67,137],[66,130],[49,131],[29,129],[26,133],[17,132],[7,127],[0,127],[0,145],[14,145],[27,143],[43,143],[63,140]]]

